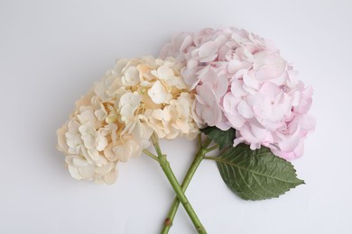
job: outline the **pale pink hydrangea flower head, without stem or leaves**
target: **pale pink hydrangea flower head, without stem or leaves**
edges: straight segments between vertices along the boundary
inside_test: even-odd
[[[183,64],[181,75],[197,92],[200,119],[236,129],[234,146],[263,145],[289,160],[302,155],[303,139],[315,128],[312,89],[272,43],[236,28],[204,29],[174,36],[160,54],[169,56]]]

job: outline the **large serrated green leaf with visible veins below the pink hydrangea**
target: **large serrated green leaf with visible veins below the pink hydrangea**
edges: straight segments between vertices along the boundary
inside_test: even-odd
[[[269,148],[251,150],[240,144],[220,157],[208,157],[218,163],[225,184],[245,200],[278,197],[304,181],[297,178],[292,164],[273,155]]]

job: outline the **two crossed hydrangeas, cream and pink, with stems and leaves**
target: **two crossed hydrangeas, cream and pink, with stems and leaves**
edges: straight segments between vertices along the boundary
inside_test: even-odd
[[[58,148],[72,177],[105,184],[116,182],[117,163],[151,157],[176,193],[162,233],[180,202],[197,231],[207,233],[185,195],[201,161],[215,161],[225,184],[245,200],[303,184],[290,160],[301,157],[315,128],[311,95],[268,40],[236,28],[182,32],[159,58],[117,59],[76,102],[57,132]],[[199,144],[181,184],[159,144],[178,137]]]

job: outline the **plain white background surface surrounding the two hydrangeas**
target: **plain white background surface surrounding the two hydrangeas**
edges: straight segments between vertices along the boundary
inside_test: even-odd
[[[208,233],[352,233],[352,5],[341,1],[0,1],[0,233],[158,233],[173,199],[160,166],[119,165],[113,185],[72,179],[56,130],[116,58],[173,33],[236,26],[273,40],[315,90],[301,185],[245,202],[204,161],[187,195]],[[194,142],[162,142],[181,179]],[[195,233],[185,211],[170,233]]]

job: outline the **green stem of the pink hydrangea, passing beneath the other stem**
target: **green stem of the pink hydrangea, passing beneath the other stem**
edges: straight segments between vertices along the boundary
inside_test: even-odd
[[[196,156],[194,157],[193,162],[190,165],[190,168],[189,168],[189,170],[188,170],[188,172],[187,172],[186,176],[184,177],[183,182],[181,184],[181,189],[182,189],[183,193],[186,191],[187,187],[189,186],[190,180],[193,177],[194,173],[196,172],[200,162],[203,160],[203,157],[205,157],[207,152],[212,150],[212,149],[211,150],[207,149],[210,142],[211,142],[211,140],[207,139],[206,142],[204,143],[204,145],[202,145],[201,140],[199,140],[199,151],[197,152]],[[175,215],[176,215],[176,212],[177,212],[177,209],[179,208],[179,206],[180,206],[180,200],[176,196],[173,199],[173,202],[171,204],[171,208],[168,212],[167,218],[165,219],[165,221],[163,223],[162,232],[161,232],[162,234],[168,233],[169,230],[171,229],[173,219],[175,218]]]

